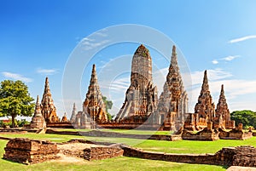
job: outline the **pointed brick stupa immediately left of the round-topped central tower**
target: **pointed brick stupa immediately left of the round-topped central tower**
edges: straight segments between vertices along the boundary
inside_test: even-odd
[[[96,77],[96,66],[92,66],[90,85],[83,104],[84,122],[90,117],[91,128],[96,128],[96,123],[108,122],[106,106],[102,99],[102,93]],[[85,123],[86,124],[86,123]]]

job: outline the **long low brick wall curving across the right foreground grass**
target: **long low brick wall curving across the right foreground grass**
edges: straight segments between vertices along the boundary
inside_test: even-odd
[[[252,146],[227,147],[215,154],[172,154],[143,151],[131,148],[130,146],[123,146],[123,149],[125,157],[138,157],[168,162],[256,167],[256,149]]]

